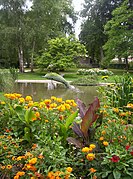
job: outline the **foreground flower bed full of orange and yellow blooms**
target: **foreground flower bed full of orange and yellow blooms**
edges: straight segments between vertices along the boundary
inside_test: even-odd
[[[34,102],[31,96],[5,94],[1,178],[132,179],[133,104],[114,107],[111,99],[106,93],[86,107],[80,99]]]

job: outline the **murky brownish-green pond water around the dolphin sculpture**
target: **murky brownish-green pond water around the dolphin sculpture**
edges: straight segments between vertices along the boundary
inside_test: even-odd
[[[86,105],[90,104],[97,96],[96,86],[77,86],[78,90],[66,89],[64,86],[57,86],[56,89],[48,90],[47,84],[42,83],[18,83],[15,85],[15,92],[21,93],[24,97],[30,95],[34,101],[56,96],[66,99],[81,99]]]

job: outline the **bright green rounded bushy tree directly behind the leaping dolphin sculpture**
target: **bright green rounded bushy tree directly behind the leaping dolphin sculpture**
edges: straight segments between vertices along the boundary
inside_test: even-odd
[[[48,41],[48,48],[37,57],[37,64],[49,71],[64,71],[75,65],[74,59],[86,54],[85,46],[74,36],[55,38]]]

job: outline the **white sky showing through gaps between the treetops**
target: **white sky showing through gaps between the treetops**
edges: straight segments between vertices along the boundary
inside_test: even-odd
[[[32,3],[28,1],[28,5],[31,6]],[[82,4],[84,3],[84,0],[72,0],[73,7],[75,11],[80,11],[82,9]],[[81,25],[81,17],[78,16],[78,20],[75,24],[75,35],[78,38],[78,35],[80,33],[80,25]]]

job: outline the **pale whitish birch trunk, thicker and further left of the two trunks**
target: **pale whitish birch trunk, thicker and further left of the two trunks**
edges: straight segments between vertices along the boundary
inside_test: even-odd
[[[23,48],[22,45],[18,48],[18,57],[19,57],[19,72],[24,72],[24,55],[23,55]]]

